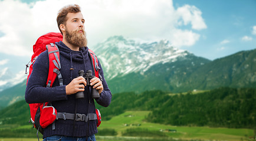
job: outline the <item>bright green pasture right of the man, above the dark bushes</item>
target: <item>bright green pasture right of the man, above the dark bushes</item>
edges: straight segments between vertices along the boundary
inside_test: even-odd
[[[179,139],[202,139],[202,140],[241,140],[254,136],[252,129],[229,129],[222,127],[188,127],[160,125],[156,123],[145,122],[149,111],[127,111],[111,120],[102,121],[99,129],[114,129],[117,136],[122,136],[129,128],[142,128],[154,131],[162,131],[168,137]],[[104,116],[104,115],[103,115]],[[172,132],[171,130],[176,130]]]

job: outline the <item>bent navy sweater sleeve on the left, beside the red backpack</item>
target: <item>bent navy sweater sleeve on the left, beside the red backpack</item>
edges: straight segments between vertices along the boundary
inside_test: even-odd
[[[25,91],[27,103],[44,103],[67,99],[64,86],[46,88],[48,78],[49,59],[48,52],[42,52],[33,65]]]

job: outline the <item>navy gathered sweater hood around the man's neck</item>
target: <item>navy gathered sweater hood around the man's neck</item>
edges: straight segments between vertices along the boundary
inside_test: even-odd
[[[55,43],[60,50],[61,55],[71,61],[86,61],[88,58],[88,47],[80,48],[80,51],[73,51],[68,48],[62,41]]]

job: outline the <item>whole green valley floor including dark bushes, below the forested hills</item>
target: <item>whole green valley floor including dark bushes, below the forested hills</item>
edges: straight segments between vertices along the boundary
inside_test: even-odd
[[[116,140],[159,140],[159,141],[185,141],[185,140],[248,140],[254,136],[252,129],[230,129],[225,127],[189,127],[172,126],[158,123],[149,123],[145,117],[150,111],[126,111],[120,115],[114,116],[110,120],[103,120],[99,133],[96,134],[98,141],[116,141]],[[9,136],[8,136],[9,135]],[[12,136],[10,136],[12,135]],[[36,130],[31,126],[13,127],[12,129],[1,130],[0,140],[13,141],[15,138],[6,139],[1,137],[33,137],[23,140],[37,140]],[[40,136],[41,138],[42,136]],[[19,140],[22,140],[19,138]],[[26,141],[27,141],[26,140]]]

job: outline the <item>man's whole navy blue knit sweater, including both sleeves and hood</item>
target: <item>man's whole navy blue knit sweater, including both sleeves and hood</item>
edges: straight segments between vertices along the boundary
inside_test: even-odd
[[[76,99],[75,95],[66,95],[65,86],[78,76],[79,70],[93,70],[90,58],[88,56],[88,48],[80,48],[80,51],[72,51],[63,42],[56,42],[60,50],[61,75],[63,76],[63,86],[60,86],[58,78],[52,85],[52,88],[46,88],[46,82],[49,70],[48,52],[42,52],[33,65],[33,70],[29,76],[27,89],[25,92],[25,100],[27,103],[43,103],[51,102],[57,112],[75,113],[76,104],[77,112],[81,114],[95,113],[94,100],[88,98],[87,88],[84,90],[84,99]],[[107,107],[111,102],[111,92],[104,79],[103,70],[100,62],[100,75],[103,76],[103,92],[100,98],[96,100],[99,105]],[[73,69],[70,69],[73,68]],[[94,74],[93,74],[94,75]],[[89,109],[88,109],[89,108]],[[44,136],[52,135],[76,136],[84,137],[97,133],[96,120],[89,121],[89,131],[87,131],[87,122],[75,122],[74,120],[55,120],[55,130],[52,125],[44,129]]]

